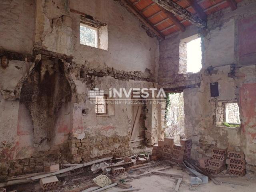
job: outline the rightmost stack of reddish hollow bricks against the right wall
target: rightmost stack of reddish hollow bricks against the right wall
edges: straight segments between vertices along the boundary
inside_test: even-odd
[[[245,159],[243,152],[229,151],[228,152],[228,172],[237,176],[245,175]]]

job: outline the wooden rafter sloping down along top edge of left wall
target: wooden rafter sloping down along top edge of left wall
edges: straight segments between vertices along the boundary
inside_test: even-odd
[[[132,5],[132,3],[129,0],[119,0],[126,9],[128,9],[130,12],[132,12],[146,27],[148,27],[156,36],[158,36],[160,39],[164,39],[164,35],[161,34],[160,31],[155,26],[152,26],[152,24],[148,21],[148,19],[136,8]]]

